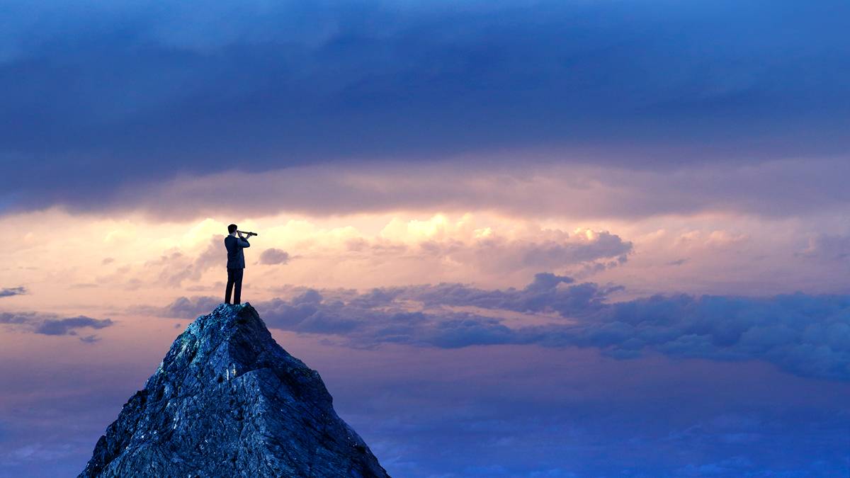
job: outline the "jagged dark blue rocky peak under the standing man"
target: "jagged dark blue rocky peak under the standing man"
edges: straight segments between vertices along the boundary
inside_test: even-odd
[[[80,476],[388,476],[319,373],[250,304],[221,304],[174,341]]]

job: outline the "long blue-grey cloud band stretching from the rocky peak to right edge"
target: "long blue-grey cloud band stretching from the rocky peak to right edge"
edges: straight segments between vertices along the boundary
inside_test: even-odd
[[[293,299],[256,306],[269,327],[340,335],[354,347],[578,346],[618,359],[651,351],[713,361],[762,360],[804,377],[850,380],[850,296],[658,295],[607,302],[618,289],[543,273],[522,289],[463,284],[378,288],[363,294],[309,289]],[[218,303],[212,298],[196,298],[194,303],[203,300]],[[173,307],[187,301],[180,298]],[[411,308],[411,302],[422,307]],[[494,315],[457,307],[477,307]],[[542,325],[509,327],[498,318],[500,311],[557,314],[563,319],[547,316],[552,320]]]

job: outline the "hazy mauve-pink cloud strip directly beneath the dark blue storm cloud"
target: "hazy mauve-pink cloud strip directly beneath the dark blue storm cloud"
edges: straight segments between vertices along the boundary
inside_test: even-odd
[[[531,156],[527,162],[517,157]],[[348,162],[195,174],[127,185],[101,213],[138,210],[156,219],[240,217],[297,212],[333,215],[400,210],[492,210],[522,218],[643,219],[663,214],[751,213],[782,218],[841,208],[845,158],[783,156],[742,166],[727,162],[634,170],[574,162],[569,151],[450,156],[432,162]],[[596,155],[587,155],[594,160]],[[521,164],[521,165],[520,165]],[[446,180],[450,178],[451,180]],[[809,185],[818,184],[813,189]],[[217,191],[251,190],[248,204]],[[569,198],[569,201],[564,198]],[[730,237],[717,237],[716,245]]]

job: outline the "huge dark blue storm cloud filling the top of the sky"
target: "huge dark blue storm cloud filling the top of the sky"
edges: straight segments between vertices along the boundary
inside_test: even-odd
[[[0,211],[361,157],[570,147],[643,168],[847,149],[837,0],[0,9]]]

